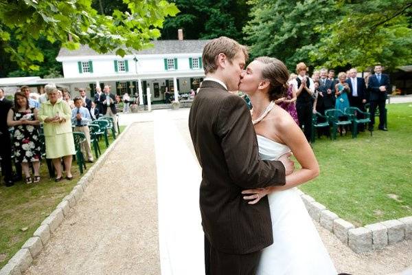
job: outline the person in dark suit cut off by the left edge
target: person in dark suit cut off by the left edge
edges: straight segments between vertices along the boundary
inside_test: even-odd
[[[9,126],[7,124],[8,111],[12,102],[5,98],[4,90],[0,88],[0,156],[1,174],[4,176],[5,186],[13,186],[12,181],[12,146]]]

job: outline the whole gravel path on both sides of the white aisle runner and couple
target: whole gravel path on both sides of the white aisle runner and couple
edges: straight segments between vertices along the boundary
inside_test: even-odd
[[[170,112],[193,153],[187,114],[187,109]],[[139,115],[126,118],[128,122],[142,121]],[[149,122],[135,123],[124,133],[82,201],[25,274],[160,275],[153,116],[144,115],[143,121]],[[315,225],[339,272],[387,275],[412,267],[412,241],[358,255]]]

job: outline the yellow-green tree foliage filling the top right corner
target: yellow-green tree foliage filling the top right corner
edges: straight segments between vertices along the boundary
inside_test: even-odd
[[[344,12],[330,25],[316,28],[322,39],[310,51],[314,63],[365,69],[412,63],[411,0],[340,1]]]

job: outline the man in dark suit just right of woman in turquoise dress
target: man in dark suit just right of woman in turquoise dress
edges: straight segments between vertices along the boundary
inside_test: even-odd
[[[365,111],[367,96],[365,79],[357,77],[357,74],[358,71],[355,68],[350,69],[349,78],[346,80],[346,83],[350,87],[350,93],[348,94],[349,104],[350,107],[357,107],[361,109],[361,111]],[[357,114],[357,117],[363,118],[360,113]],[[364,130],[363,124],[359,125],[359,130]]]

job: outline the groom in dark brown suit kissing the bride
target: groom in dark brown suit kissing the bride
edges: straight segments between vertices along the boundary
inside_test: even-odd
[[[203,50],[206,78],[190,109],[189,129],[202,167],[200,206],[205,232],[206,274],[255,274],[261,250],[273,243],[268,199],[249,205],[242,190],[284,185],[293,171],[281,161],[258,157],[258,142],[238,89],[248,57],[244,46],[227,37]]]

